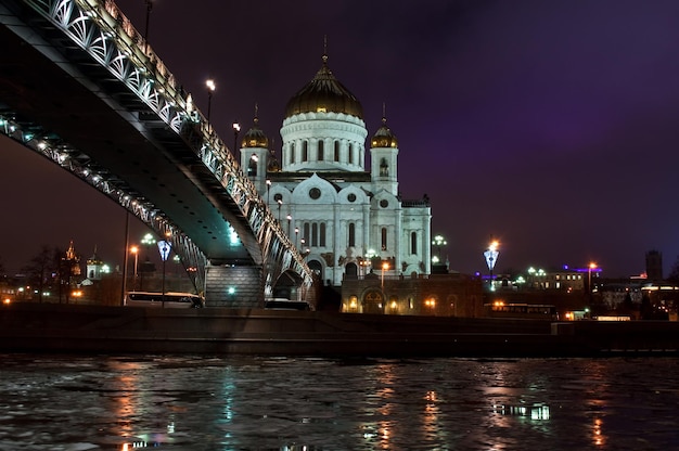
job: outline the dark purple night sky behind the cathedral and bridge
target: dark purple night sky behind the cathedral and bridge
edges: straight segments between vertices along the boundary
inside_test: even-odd
[[[117,2],[144,30],[142,0]],[[450,268],[585,267],[604,276],[679,255],[679,2],[154,1],[149,40],[231,146],[231,124],[279,151],[287,100],[329,66],[362,103],[383,103],[399,142],[403,199],[425,193]],[[1,55],[0,55],[1,57]],[[369,145],[369,143],[367,143]],[[125,211],[31,151],[0,139],[0,261],[41,244],[123,259]],[[131,240],[145,229],[136,220]]]

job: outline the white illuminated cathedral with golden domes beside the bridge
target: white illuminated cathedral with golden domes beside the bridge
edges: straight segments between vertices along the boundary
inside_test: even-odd
[[[326,285],[369,274],[431,272],[431,207],[398,191],[398,141],[387,126],[370,139],[358,99],[328,56],[287,102],[280,159],[255,117],[241,141],[241,167],[309,267]]]

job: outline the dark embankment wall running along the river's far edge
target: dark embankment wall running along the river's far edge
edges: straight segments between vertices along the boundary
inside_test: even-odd
[[[552,323],[14,302],[0,308],[0,350],[357,357],[676,356],[679,323]]]

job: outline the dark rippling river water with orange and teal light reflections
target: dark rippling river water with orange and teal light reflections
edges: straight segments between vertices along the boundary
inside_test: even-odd
[[[0,355],[1,450],[662,450],[679,359]]]

